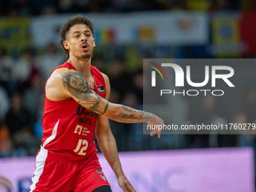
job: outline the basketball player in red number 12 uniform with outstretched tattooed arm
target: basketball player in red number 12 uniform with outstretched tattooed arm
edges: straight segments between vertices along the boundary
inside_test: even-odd
[[[91,66],[93,23],[81,15],[60,29],[67,62],[56,67],[45,85],[43,139],[30,191],[110,192],[96,156],[94,133],[123,191],[136,191],[123,174],[108,118],[123,123],[163,124],[154,114],[108,102],[108,77]],[[108,50],[106,50],[108,51]],[[151,132],[151,136],[160,130]]]

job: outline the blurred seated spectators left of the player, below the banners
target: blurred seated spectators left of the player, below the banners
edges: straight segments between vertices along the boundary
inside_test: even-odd
[[[55,44],[43,56],[28,47],[14,59],[0,48],[0,156],[35,155],[40,147],[44,83],[65,59]]]

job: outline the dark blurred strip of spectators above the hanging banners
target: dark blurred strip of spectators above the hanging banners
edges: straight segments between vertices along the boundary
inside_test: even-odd
[[[163,10],[250,11],[254,8],[253,0],[11,0],[0,2],[0,16]]]

